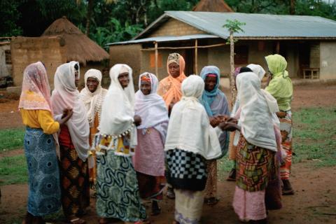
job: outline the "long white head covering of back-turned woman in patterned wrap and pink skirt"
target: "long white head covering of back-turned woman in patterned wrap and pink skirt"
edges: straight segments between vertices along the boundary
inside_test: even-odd
[[[276,109],[269,106],[264,92],[260,90],[260,79],[253,72],[240,73],[237,76],[237,90],[241,108],[241,133],[246,141],[276,151],[272,120]]]

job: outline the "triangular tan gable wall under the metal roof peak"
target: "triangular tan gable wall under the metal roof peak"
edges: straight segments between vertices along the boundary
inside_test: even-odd
[[[192,35],[192,34],[206,34],[206,33],[184,22],[170,18],[167,22],[161,25],[161,27],[153,31],[153,33],[151,33],[151,35],[149,35],[148,37],[184,36],[184,35]]]

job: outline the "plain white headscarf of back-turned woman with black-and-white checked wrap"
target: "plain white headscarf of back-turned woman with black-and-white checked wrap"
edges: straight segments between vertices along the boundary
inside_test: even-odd
[[[174,105],[169,119],[165,151],[179,148],[200,154],[207,160],[218,158],[221,146],[216,131],[198,100],[204,90],[203,79],[191,75],[183,80],[181,90],[183,97]]]

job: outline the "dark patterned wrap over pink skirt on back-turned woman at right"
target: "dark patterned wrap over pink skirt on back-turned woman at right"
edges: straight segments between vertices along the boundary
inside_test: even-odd
[[[233,207],[239,219],[266,218],[265,189],[272,174],[275,153],[249,144],[241,135],[237,146],[236,189]]]

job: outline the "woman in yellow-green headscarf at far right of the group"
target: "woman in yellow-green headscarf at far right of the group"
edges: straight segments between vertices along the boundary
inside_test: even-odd
[[[272,94],[279,105],[279,113],[277,116],[280,120],[280,130],[282,136],[282,148],[286,151],[286,159],[280,167],[281,180],[283,183],[283,195],[293,195],[294,190],[290,184],[290,167],[292,165],[292,111],[291,102],[293,99],[293,84],[286,71],[287,62],[281,55],[268,55],[265,57],[271,80],[265,88],[267,92]]]

